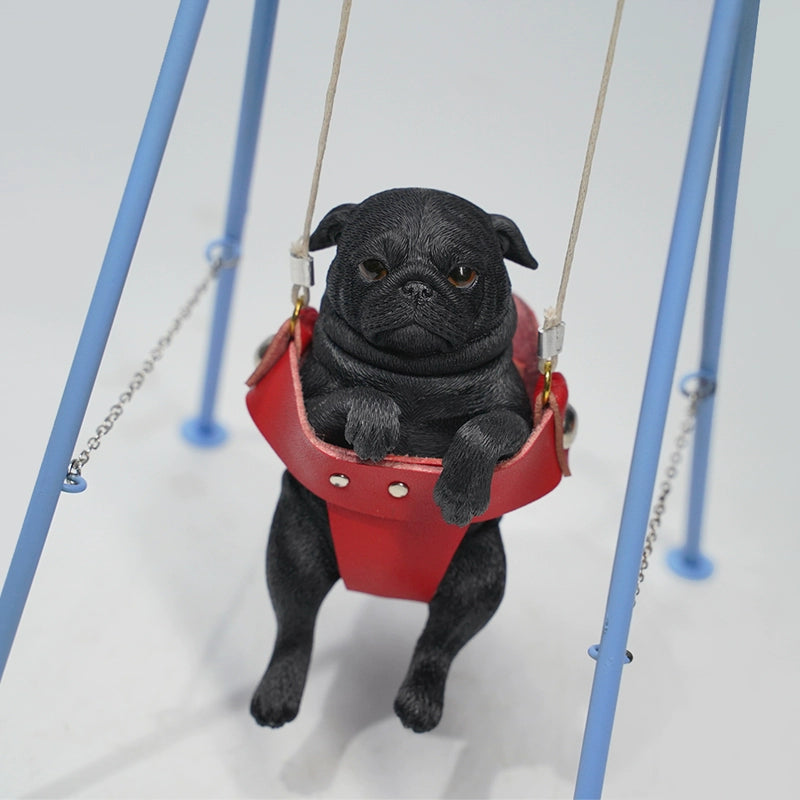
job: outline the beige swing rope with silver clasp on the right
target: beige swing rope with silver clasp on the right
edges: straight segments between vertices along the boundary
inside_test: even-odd
[[[597,95],[597,104],[594,110],[594,119],[592,120],[592,127],[589,132],[589,143],[586,148],[586,157],[583,163],[583,173],[581,174],[581,183],[578,189],[578,200],[575,206],[575,215],[572,220],[572,229],[569,234],[569,242],[567,244],[567,253],[564,257],[564,268],[561,273],[561,284],[558,288],[558,296],[556,298],[555,307],[547,308],[544,312],[544,324],[539,336],[539,369],[545,376],[545,402],[547,402],[548,391],[548,375],[555,369],[558,361],[558,354],[564,343],[564,301],[567,296],[567,286],[569,285],[570,275],[572,274],[572,261],[575,257],[575,244],[578,241],[578,232],[581,227],[581,220],[583,218],[583,208],[586,204],[586,195],[589,190],[589,177],[592,174],[592,163],[594,161],[594,151],[597,145],[597,137],[600,133],[600,122],[603,118],[603,108],[606,102],[606,93],[608,91],[608,84],[611,79],[611,67],[614,64],[614,54],[617,49],[617,35],[619,33],[619,26],[622,20],[622,10],[625,6],[625,0],[617,0],[617,6],[614,13],[614,23],[611,26],[611,36],[608,42],[608,50],[606,52],[606,61],[603,66],[603,76],[600,79],[600,91]]]

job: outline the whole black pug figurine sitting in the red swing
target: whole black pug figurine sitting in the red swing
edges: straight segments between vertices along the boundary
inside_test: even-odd
[[[432,189],[392,189],[337,206],[310,249],[337,246],[311,349],[301,365],[317,436],[367,461],[442,459],[434,491],[448,523],[489,504],[497,462],[531,431],[514,364],[516,311],[503,259],[535,269],[517,226]],[[503,597],[499,520],[471,524],[429,603],[394,703],[403,725],[434,728],[450,664]],[[314,624],[339,578],[325,502],[286,472],[267,549],[278,631],[251,712],[278,727],[297,715]]]

